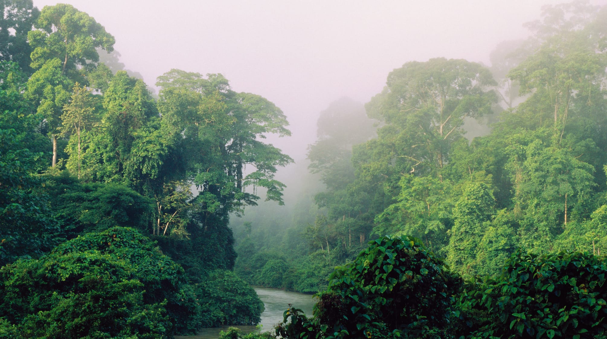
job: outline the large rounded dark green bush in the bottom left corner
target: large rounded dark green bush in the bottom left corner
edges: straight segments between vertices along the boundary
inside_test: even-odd
[[[189,320],[182,276],[148,238],[113,227],[2,267],[0,318],[19,338],[165,338]]]

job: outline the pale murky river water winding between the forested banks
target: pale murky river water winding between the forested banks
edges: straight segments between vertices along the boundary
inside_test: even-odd
[[[305,315],[311,317],[314,298],[309,294],[287,292],[280,289],[268,289],[265,287],[253,287],[259,298],[263,301],[265,310],[261,315],[262,332],[273,331],[274,325],[282,321],[282,314],[292,304],[294,307],[304,311]],[[202,329],[197,335],[176,335],[175,339],[217,339],[219,331],[225,331],[229,326]],[[255,326],[235,326],[243,332],[255,331]]]

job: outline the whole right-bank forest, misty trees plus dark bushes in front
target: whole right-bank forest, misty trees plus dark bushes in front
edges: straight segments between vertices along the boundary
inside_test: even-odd
[[[325,187],[301,205],[315,220],[293,213],[282,242],[236,232],[256,258],[242,277],[318,291],[276,334],[605,338],[606,22],[607,7],[549,6],[490,66],[393,70],[365,105],[376,129],[355,106],[323,112],[308,168]]]

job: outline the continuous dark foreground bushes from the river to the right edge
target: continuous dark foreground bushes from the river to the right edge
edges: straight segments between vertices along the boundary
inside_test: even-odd
[[[605,338],[606,263],[581,252],[515,252],[463,284],[413,238],[371,241],[338,267],[314,317],[290,306],[282,338]]]

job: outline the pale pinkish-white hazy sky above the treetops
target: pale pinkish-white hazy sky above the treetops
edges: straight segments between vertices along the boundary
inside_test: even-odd
[[[34,0],[42,9],[52,0]],[[295,159],[316,139],[331,101],[368,102],[407,61],[489,63],[498,42],[527,35],[549,0],[195,1],[64,0],[116,38],[127,69],[151,86],[172,68],[222,73],[238,92],[270,99],[293,137],[273,141]]]

